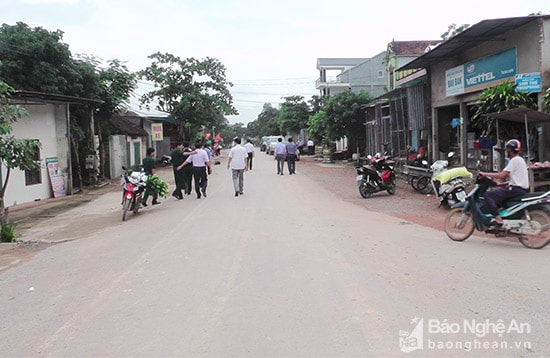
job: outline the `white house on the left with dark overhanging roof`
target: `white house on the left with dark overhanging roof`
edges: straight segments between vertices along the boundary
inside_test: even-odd
[[[6,207],[73,193],[70,111],[72,106],[91,108],[101,101],[31,91],[16,91],[11,103],[22,106],[29,113],[12,124],[16,138],[35,139],[40,143],[36,160],[42,166],[37,170],[11,170],[4,197]],[[93,129],[93,110],[90,110],[90,128]],[[0,179],[5,180],[6,168],[0,168]]]

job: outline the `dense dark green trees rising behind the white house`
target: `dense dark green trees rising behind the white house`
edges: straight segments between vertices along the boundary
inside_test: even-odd
[[[63,32],[30,28],[19,22],[0,28],[0,77],[18,90],[96,99],[103,104],[95,112],[100,144],[110,134],[109,120],[128,103],[136,86],[136,75],[118,60],[104,66],[93,56],[73,58],[69,46],[63,43]],[[92,108],[89,105],[71,106],[71,148],[75,166],[75,184],[82,185],[84,157],[94,151],[90,131]],[[101,149],[100,149],[101,152]],[[104,174],[104,162],[100,173]]]

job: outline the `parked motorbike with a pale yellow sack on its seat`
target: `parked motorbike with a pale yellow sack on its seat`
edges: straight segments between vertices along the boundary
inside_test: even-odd
[[[472,173],[466,167],[447,169],[449,162],[436,160],[431,166],[433,192],[439,199],[439,206],[452,207],[458,202],[466,200],[467,178]]]

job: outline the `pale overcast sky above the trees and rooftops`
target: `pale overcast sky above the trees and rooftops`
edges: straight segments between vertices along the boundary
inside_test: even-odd
[[[392,40],[438,40],[449,25],[550,14],[548,0],[0,0],[0,23],[63,31],[73,55],[118,59],[131,71],[149,55],[218,59],[238,116],[264,103],[318,95],[317,58],[370,58]],[[152,89],[141,81],[138,92]]]

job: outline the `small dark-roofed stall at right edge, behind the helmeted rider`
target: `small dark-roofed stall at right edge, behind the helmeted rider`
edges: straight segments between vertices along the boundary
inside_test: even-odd
[[[529,167],[529,188],[533,192],[537,187],[550,186],[550,162],[531,162],[531,145],[529,138],[529,125],[550,123],[550,114],[526,107],[519,107],[504,112],[490,113],[487,117],[497,120],[497,139],[500,139],[498,133],[499,120],[524,124],[526,139],[525,148],[527,149],[527,164]]]

